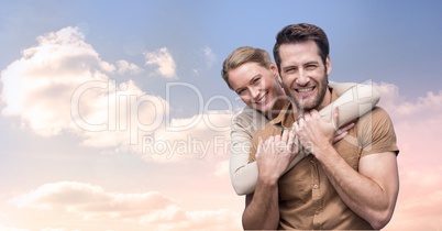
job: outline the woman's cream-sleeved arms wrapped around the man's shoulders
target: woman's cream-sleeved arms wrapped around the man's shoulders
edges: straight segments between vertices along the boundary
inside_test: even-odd
[[[322,117],[331,117],[333,108],[339,107],[338,125],[341,128],[373,109],[379,101],[379,94],[372,85],[329,84],[340,96],[333,103],[322,109]],[[349,90],[350,89],[350,90]],[[258,168],[256,162],[248,163],[253,134],[264,128],[268,120],[259,112],[245,108],[232,122],[230,176],[237,195],[247,195],[255,190]],[[294,167],[306,154],[299,153],[288,166]]]

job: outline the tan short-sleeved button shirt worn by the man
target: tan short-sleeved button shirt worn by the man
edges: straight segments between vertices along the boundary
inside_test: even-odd
[[[335,99],[336,95],[332,91],[332,101]],[[255,134],[250,161],[255,160],[259,136],[266,140],[270,135],[280,134],[279,128],[290,127],[294,118],[297,118],[297,112],[288,103],[285,111]],[[364,114],[345,139],[333,146],[355,170],[360,158],[365,155],[399,152],[391,120],[378,107]],[[373,229],[344,204],[313,155],[307,155],[283,175],[278,187],[279,229]]]

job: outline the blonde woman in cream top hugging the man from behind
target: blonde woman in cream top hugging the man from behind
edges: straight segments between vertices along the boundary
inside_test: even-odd
[[[237,195],[246,195],[254,191],[258,177],[256,162],[248,163],[252,138],[256,131],[278,116],[288,99],[278,81],[277,67],[264,50],[250,46],[234,50],[223,62],[221,74],[229,88],[246,105],[232,121],[230,161],[232,186]],[[338,121],[340,128],[369,111],[379,100],[379,95],[371,86],[335,82],[330,82],[329,86],[340,98],[330,107],[322,109],[320,114],[331,117],[332,107],[344,108],[340,110]],[[356,97],[354,94],[357,94]],[[360,107],[362,105],[372,107]],[[334,142],[343,139],[353,125],[351,123],[341,128]],[[287,170],[299,161],[295,158]]]

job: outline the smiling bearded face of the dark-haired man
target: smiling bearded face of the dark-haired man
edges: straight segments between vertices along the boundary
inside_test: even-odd
[[[325,65],[313,41],[279,46],[283,85],[298,108],[320,110],[330,103],[328,76],[331,73],[329,57]]]

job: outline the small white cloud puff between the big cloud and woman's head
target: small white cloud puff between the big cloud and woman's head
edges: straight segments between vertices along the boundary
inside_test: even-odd
[[[144,53],[146,65],[157,66],[156,73],[166,79],[176,79],[176,64],[167,47],[159,48],[155,52]]]

